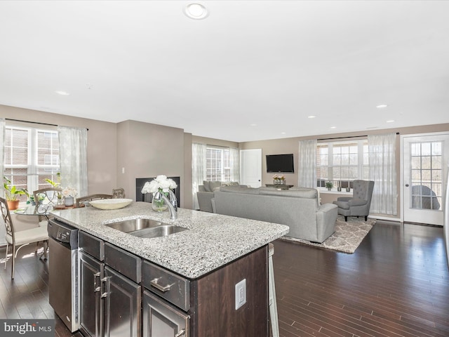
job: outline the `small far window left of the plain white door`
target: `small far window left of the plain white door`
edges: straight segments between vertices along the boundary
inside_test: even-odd
[[[231,154],[229,147],[206,147],[206,180],[231,180]]]

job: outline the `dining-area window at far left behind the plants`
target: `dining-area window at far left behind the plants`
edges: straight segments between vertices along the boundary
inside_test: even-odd
[[[18,189],[51,187],[45,179],[57,180],[59,158],[58,131],[6,126],[5,176]],[[27,196],[20,194],[18,199],[27,201]]]

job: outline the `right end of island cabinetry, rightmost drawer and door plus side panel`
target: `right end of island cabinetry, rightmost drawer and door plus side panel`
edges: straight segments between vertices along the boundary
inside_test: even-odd
[[[269,336],[267,256],[264,246],[190,281],[145,261],[144,337]],[[243,279],[246,303],[236,309],[235,286]]]

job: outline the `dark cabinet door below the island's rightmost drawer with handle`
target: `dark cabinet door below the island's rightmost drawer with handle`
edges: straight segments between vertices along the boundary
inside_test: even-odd
[[[144,337],[189,337],[189,315],[143,292]]]

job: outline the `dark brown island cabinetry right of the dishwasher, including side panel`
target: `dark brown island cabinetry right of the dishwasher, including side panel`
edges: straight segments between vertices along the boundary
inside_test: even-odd
[[[267,245],[198,279],[186,279],[79,233],[83,335],[269,336]],[[236,309],[236,284],[243,279],[246,303]]]

